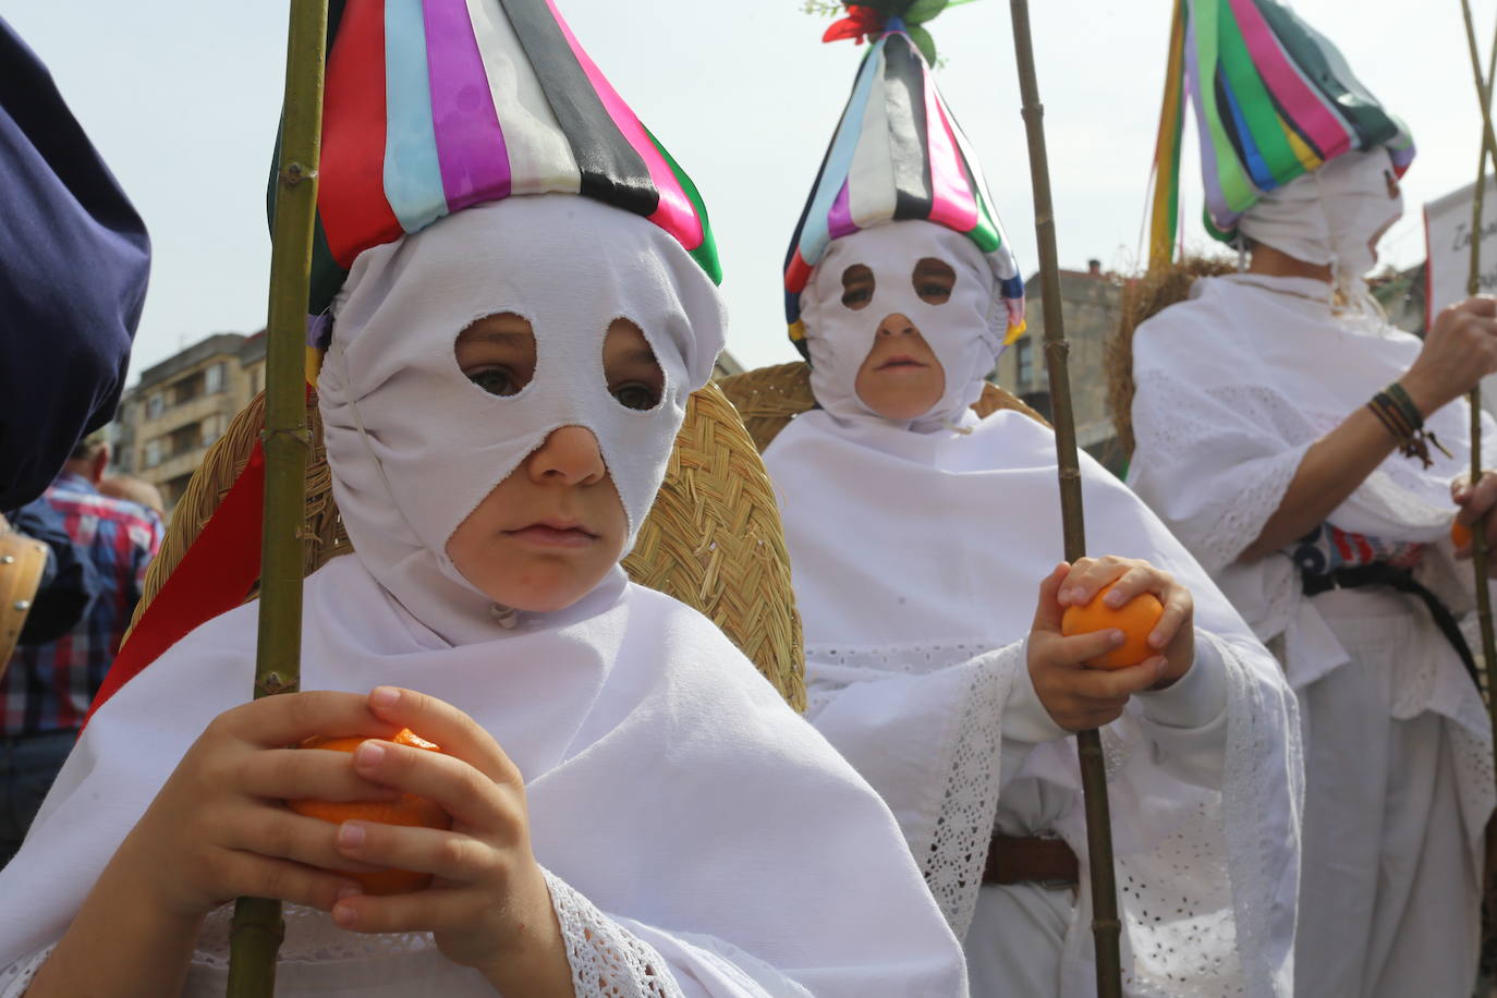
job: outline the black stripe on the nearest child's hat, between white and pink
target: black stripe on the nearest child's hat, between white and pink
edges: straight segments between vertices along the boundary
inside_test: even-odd
[[[639,215],[660,206],[650,168],[614,124],[545,0],[500,0],[582,172],[582,195]],[[500,123],[503,124],[503,123]]]

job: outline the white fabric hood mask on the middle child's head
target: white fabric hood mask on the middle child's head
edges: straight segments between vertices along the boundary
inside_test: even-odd
[[[934,257],[957,274],[951,298],[939,305],[915,292],[915,265]],[[873,299],[859,310],[841,302],[843,272],[862,263],[874,275]],[[811,392],[841,420],[879,420],[916,432],[957,426],[982,395],[982,379],[1003,349],[1007,310],[987,257],[967,236],[931,221],[891,221],[835,239],[801,293],[801,319],[811,355]],[[936,353],[946,389],[930,411],[888,420],[861,398],[858,370],[868,358],[879,323],[903,313]]]

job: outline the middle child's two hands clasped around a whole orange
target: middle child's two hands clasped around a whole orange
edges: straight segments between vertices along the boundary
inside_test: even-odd
[[[1064,637],[1060,618],[1066,606],[1082,604],[1117,581],[1108,596],[1126,603],[1139,593],[1154,593],[1165,615],[1148,643],[1163,654],[1126,669],[1087,669],[1085,663],[1123,643],[1121,631],[1103,630]],[[1111,600],[1109,600],[1111,601]],[[1190,594],[1169,575],[1144,561],[1082,558],[1060,564],[1040,582],[1039,606],[1028,642],[1028,669],[1040,703],[1057,724],[1070,732],[1102,727],[1117,720],[1135,693],[1168,685],[1186,675],[1195,657]]]

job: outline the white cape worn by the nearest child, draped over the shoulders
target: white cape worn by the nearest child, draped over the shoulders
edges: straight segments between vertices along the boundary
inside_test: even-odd
[[[93,718],[0,872],[0,994],[60,938],[204,726],[244,700],[254,616],[199,627]],[[494,735],[527,780],[579,997],[966,994],[874,792],[722,631],[620,570],[545,624],[452,648],[358,557],[337,558],[307,579],[302,661],[302,688],[404,685]],[[290,916],[277,994],[491,994],[430,937]],[[216,932],[222,917],[186,994],[223,994]]]

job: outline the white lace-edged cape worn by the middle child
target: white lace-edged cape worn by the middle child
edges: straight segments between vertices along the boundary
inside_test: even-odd
[[[966,428],[915,434],[811,411],[765,452],[805,621],[810,717],[889,802],[958,935],[998,811],[1003,708],[1033,696],[1022,639],[1039,581],[1063,560],[1052,434],[1015,411]],[[1301,806],[1293,697],[1163,524],[1085,455],[1082,479],[1087,549],[1148,558],[1187,585],[1228,687],[1225,757],[1219,733],[1201,747],[1217,765],[1198,766],[1199,780],[1178,778],[1189,765],[1154,765],[1151,721],[1133,705],[1103,733],[1126,988],[1284,995]],[[1075,744],[1042,744],[1022,775],[1070,798],[1051,824],[1082,862],[1060,994],[1090,995]]]

